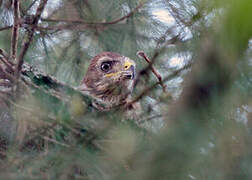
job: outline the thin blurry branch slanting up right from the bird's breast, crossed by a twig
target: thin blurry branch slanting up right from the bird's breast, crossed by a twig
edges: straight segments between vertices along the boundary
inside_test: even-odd
[[[171,80],[172,78],[178,76],[182,71],[190,68],[192,66],[192,64],[188,64],[186,66],[184,66],[183,68],[177,70],[177,71],[174,71],[172,74],[168,75],[167,77],[165,77],[163,79],[163,82],[166,82],[166,81],[169,81]],[[152,89],[154,89],[155,87],[157,87],[158,85],[160,84],[160,82],[156,82],[154,84],[152,84],[151,86],[145,88],[141,94],[139,94],[134,100],[132,100],[131,102],[128,103],[128,106],[136,103],[137,101],[139,101],[140,99],[142,99],[148,92],[150,92]]]

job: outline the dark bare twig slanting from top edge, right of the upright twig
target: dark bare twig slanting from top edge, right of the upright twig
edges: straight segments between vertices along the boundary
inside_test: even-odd
[[[27,39],[25,40],[25,42],[23,44],[23,48],[22,48],[21,53],[18,57],[18,62],[17,62],[16,69],[15,69],[15,76],[16,76],[17,80],[19,79],[20,71],[21,71],[22,65],[24,63],[24,56],[25,56],[25,54],[26,54],[26,52],[32,42],[33,35],[34,35],[35,29],[36,29],[35,26],[38,24],[38,21],[39,21],[41,14],[45,8],[46,3],[47,3],[47,0],[40,0],[39,6],[37,8],[36,14],[35,14],[33,22],[32,22],[31,29],[27,33]]]

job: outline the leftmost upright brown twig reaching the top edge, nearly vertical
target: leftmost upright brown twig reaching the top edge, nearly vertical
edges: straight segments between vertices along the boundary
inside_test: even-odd
[[[19,0],[13,1],[13,9],[14,9],[14,24],[12,27],[12,36],[11,36],[11,51],[10,57],[14,61],[16,61],[17,54],[17,44],[18,44],[18,31],[19,31],[19,20],[20,20],[20,12],[19,12],[20,2]]]

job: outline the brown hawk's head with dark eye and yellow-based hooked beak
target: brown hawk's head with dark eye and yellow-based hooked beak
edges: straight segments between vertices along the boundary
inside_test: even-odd
[[[135,69],[135,62],[128,57],[114,52],[100,53],[91,60],[80,90],[118,104],[132,92]]]

